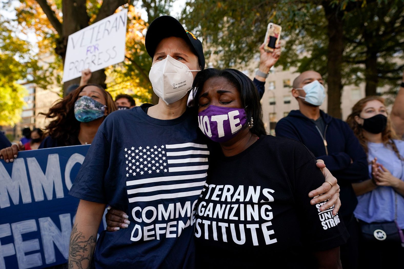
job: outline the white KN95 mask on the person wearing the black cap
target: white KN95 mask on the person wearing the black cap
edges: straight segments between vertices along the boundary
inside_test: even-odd
[[[177,61],[170,55],[166,59],[151,66],[149,79],[153,91],[164,103],[171,104],[183,98],[191,90],[194,76],[187,65]]]

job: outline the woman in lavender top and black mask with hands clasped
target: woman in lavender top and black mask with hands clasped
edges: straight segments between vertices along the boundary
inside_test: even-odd
[[[368,179],[352,184],[358,195],[354,214],[363,231],[359,268],[398,268],[404,256],[400,244],[404,238],[399,235],[404,229],[404,141],[395,139],[384,99],[378,96],[359,100],[347,123],[372,162]],[[389,223],[391,229],[379,223]],[[389,231],[385,229],[379,236],[375,233],[379,228]],[[394,240],[389,238],[392,233],[396,233]]]

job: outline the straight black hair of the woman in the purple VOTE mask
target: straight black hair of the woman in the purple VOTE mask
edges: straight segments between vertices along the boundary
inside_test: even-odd
[[[200,94],[206,80],[210,78],[225,78],[229,83],[237,88],[241,95],[241,101],[246,110],[247,121],[252,118],[254,120],[254,126],[251,128],[251,132],[254,135],[261,136],[266,135],[264,123],[262,121],[262,107],[260,97],[257,88],[250,78],[244,75],[242,72],[236,69],[214,69],[208,68],[199,71],[195,77],[193,88],[194,91],[194,105],[198,105],[197,97]]]

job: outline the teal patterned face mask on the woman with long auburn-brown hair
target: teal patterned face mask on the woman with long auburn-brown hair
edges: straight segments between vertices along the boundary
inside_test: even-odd
[[[74,103],[74,116],[79,122],[91,122],[104,116],[106,105],[88,96],[82,96]]]

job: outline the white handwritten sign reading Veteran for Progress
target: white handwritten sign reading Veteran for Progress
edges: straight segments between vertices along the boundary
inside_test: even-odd
[[[69,36],[63,82],[80,77],[84,69],[93,72],[125,59],[127,16],[123,9]]]

